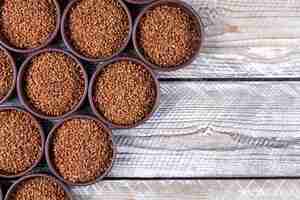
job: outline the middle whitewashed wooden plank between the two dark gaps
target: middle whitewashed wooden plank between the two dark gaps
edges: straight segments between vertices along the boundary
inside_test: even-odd
[[[111,177],[300,175],[299,82],[163,82],[144,125],[114,130]]]

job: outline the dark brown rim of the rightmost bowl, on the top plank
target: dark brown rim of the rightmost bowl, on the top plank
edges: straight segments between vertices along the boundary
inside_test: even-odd
[[[141,18],[145,15],[146,12],[148,12],[149,10],[155,8],[156,6],[160,6],[160,5],[168,5],[168,6],[172,6],[172,7],[178,7],[183,9],[184,11],[186,11],[186,13],[188,13],[194,20],[195,24],[197,25],[197,31],[200,33],[200,42],[198,44],[196,44],[196,48],[194,50],[193,55],[190,57],[189,60],[187,60],[186,62],[176,65],[174,67],[161,67],[158,66],[154,63],[151,63],[143,54],[141,48],[139,47],[138,41],[137,41],[137,32],[138,32],[138,25],[140,23]],[[133,26],[133,33],[132,33],[132,41],[133,41],[133,45],[134,45],[134,49],[137,53],[137,55],[149,66],[151,66],[153,69],[156,69],[158,71],[174,71],[174,70],[178,70],[178,69],[182,69],[186,66],[188,66],[189,64],[191,64],[198,56],[202,45],[204,43],[204,25],[200,19],[200,16],[198,15],[198,13],[187,3],[179,1],[179,0],[161,0],[161,1],[155,1],[152,4],[146,6],[141,13],[138,15],[137,19],[135,20],[134,26]]]

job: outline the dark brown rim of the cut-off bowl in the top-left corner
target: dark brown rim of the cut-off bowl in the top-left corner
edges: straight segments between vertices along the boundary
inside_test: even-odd
[[[0,37],[0,44],[3,45],[5,48],[9,49],[10,51],[14,51],[16,53],[25,53],[25,54],[40,50],[40,49],[46,47],[48,44],[50,44],[57,36],[57,33],[59,31],[59,26],[60,26],[60,18],[61,18],[61,9],[60,9],[60,5],[59,5],[58,1],[57,0],[52,0],[52,1],[56,7],[56,26],[55,26],[54,32],[49,36],[49,38],[45,41],[44,44],[42,44],[38,47],[35,47],[35,48],[21,49],[21,48],[12,46],[11,44],[9,44],[8,41],[6,41],[4,38],[1,38],[1,37]]]

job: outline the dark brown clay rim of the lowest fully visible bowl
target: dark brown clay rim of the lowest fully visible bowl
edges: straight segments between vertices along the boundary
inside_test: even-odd
[[[100,176],[98,176],[95,180],[92,180],[92,181],[89,181],[89,182],[86,182],[86,183],[73,183],[73,182],[70,182],[68,180],[66,180],[64,177],[62,177],[58,171],[55,169],[55,166],[51,160],[51,143],[52,143],[52,138],[53,138],[53,134],[54,132],[56,131],[57,128],[59,128],[65,121],[68,121],[70,119],[90,119],[90,120],[95,120],[99,123],[101,123],[103,125],[103,128],[105,129],[105,131],[107,131],[107,133],[109,133],[110,135],[110,138],[111,138],[111,141],[112,141],[112,145],[113,145],[113,158],[112,158],[112,162],[110,163],[110,166],[107,168],[107,170]],[[70,186],[87,186],[87,185],[91,185],[91,184],[94,184],[100,180],[102,180],[110,171],[111,171],[111,168],[113,166],[113,162],[116,158],[116,146],[114,144],[114,141],[113,141],[113,137],[112,137],[112,131],[103,123],[101,122],[99,119],[97,119],[96,117],[92,117],[92,116],[89,116],[89,115],[72,115],[72,116],[69,116],[61,121],[59,121],[50,131],[48,137],[47,137],[47,141],[46,141],[46,145],[45,145],[45,154],[46,154],[46,160],[47,160],[47,164],[48,164],[48,167],[49,167],[49,170],[51,171],[51,173],[53,173],[59,180],[61,180],[62,182],[66,183],[67,185],[70,185]]]

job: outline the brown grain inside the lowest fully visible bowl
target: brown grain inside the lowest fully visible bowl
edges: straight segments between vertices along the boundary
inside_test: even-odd
[[[65,180],[87,183],[111,166],[113,144],[103,125],[92,119],[69,119],[53,133],[51,160]]]

